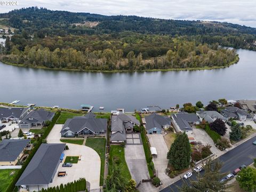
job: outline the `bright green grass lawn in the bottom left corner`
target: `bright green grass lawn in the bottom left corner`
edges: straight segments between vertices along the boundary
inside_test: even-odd
[[[18,169],[0,170],[0,191],[5,191],[17,173]]]

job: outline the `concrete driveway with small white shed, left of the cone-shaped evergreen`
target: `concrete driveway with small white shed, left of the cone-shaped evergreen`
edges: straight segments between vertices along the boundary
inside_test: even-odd
[[[162,134],[148,134],[148,138],[151,147],[155,147],[157,151],[157,157],[153,157],[156,174],[163,184],[170,183],[171,178],[165,174],[168,164],[166,157],[169,150],[164,141],[164,137]]]

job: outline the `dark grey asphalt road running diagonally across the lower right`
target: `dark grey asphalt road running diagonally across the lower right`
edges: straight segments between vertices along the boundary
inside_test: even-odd
[[[228,151],[226,154],[218,157],[220,162],[223,163],[221,172],[233,172],[240,165],[250,165],[253,163],[253,158],[256,158],[256,146],[252,145],[252,142],[256,140],[256,136],[245,141],[236,148]],[[204,174],[202,171],[201,174]],[[196,174],[190,177],[192,180],[196,180]],[[189,182],[189,180],[186,180]],[[180,179],[174,182],[172,185],[164,188],[161,192],[173,192],[178,191],[178,187],[183,185],[183,181]]]

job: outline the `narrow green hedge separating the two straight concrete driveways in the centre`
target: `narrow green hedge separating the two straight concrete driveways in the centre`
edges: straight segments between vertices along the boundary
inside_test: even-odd
[[[152,155],[151,155],[151,151],[150,151],[150,145],[148,142],[147,132],[143,126],[141,126],[141,140],[142,140],[142,144],[143,144],[144,153],[146,156],[149,176],[150,176],[150,178],[153,178],[154,172],[155,172],[155,167],[154,167],[154,163],[152,161]]]

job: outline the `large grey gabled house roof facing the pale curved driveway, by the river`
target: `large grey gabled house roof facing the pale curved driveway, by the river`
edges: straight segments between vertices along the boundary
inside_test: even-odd
[[[66,133],[67,131],[71,131],[73,133],[78,133],[85,128],[94,133],[101,132],[102,130],[107,130],[107,124],[108,119],[95,118],[95,114],[90,112],[84,116],[77,116],[67,119],[60,132]]]

